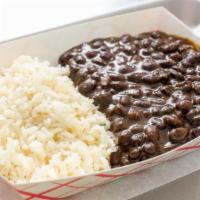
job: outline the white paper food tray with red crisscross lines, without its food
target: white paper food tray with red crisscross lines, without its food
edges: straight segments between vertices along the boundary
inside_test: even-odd
[[[134,35],[139,32],[150,30],[162,30],[198,41],[192,32],[167,10],[164,8],[154,8],[93,20],[87,23],[60,27],[36,35],[5,42],[0,44],[1,64],[7,65],[14,58],[24,53],[56,63],[57,58],[64,50],[82,41],[89,41],[96,37],[121,35],[125,32]],[[62,199],[97,185],[105,184],[123,176],[150,168],[159,163],[175,159],[195,149],[200,149],[200,137],[155,158],[115,168],[106,172],[61,180],[10,185],[10,188],[15,188],[18,193],[27,200]],[[1,188],[7,185],[7,183],[4,182],[5,181],[0,178]]]

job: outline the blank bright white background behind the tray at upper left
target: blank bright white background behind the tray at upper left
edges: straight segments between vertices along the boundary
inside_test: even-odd
[[[108,13],[143,0],[0,0],[0,41]]]

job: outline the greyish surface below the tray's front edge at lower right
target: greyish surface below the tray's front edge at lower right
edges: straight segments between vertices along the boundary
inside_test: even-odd
[[[200,183],[199,169],[200,151],[195,151],[179,159],[160,164],[146,171],[129,175],[113,183],[79,193],[66,200],[126,200],[152,190],[153,192],[134,198],[134,200],[199,200],[200,184],[195,185],[195,183],[193,183],[194,176],[190,177],[192,173],[196,173],[197,176],[195,176],[194,182]],[[169,176],[166,176],[166,174]],[[187,177],[179,180],[184,176]],[[167,187],[169,190],[165,189],[164,185],[171,182],[174,182],[172,184],[173,186],[170,186],[171,184],[169,184]],[[184,185],[187,190],[184,190],[184,188],[182,189],[181,185]],[[163,186],[163,188],[154,190],[160,186]],[[176,189],[181,192],[175,194],[174,191],[176,191]],[[189,191],[191,192],[190,194],[188,194]],[[175,194],[174,197],[172,193]],[[159,198],[158,195],[162,198]],[[192,198],[186,198],[188,195]]]

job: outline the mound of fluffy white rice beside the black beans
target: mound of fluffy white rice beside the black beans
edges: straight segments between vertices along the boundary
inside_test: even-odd
[[[66,76],[21,56],[0,67],[0,173],[14,183],[109,169],[115,144],[106,117]]]

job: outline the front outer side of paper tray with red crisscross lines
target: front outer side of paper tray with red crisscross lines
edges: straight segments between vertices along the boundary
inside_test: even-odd
[[[183,146],[166,154],[145,160],[121,168],[109,170],[95,175],[87,175],[78,178],[68,178],[58,181],[41,182],[16,186],[16,190],[27,200],[56,200],[63,199],[78,192],[114,181],[123,176],[139,172],[159,163],[176,159],[192,150],[200,149],[200,138],[197,138]]]

